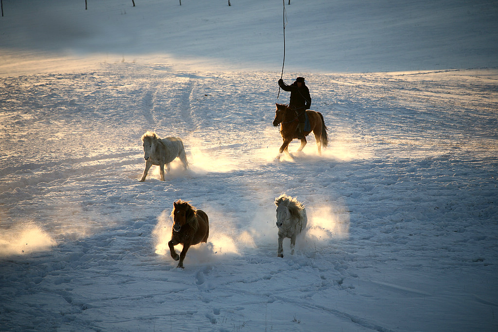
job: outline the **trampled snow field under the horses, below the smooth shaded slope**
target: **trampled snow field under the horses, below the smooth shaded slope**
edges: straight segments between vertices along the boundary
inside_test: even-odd
[[[275,70],[124,59],[0,78],[0,331],[496,331],[498,70],[316,64],[284,79],[306,77],[330,146],[308,136],[283,161]],[[139,183],[146,130],[181,137],[190,170]],[[284,258],[281,193],[309,225]],[[210,220],[185,269],[167,249],[178,199]]]

